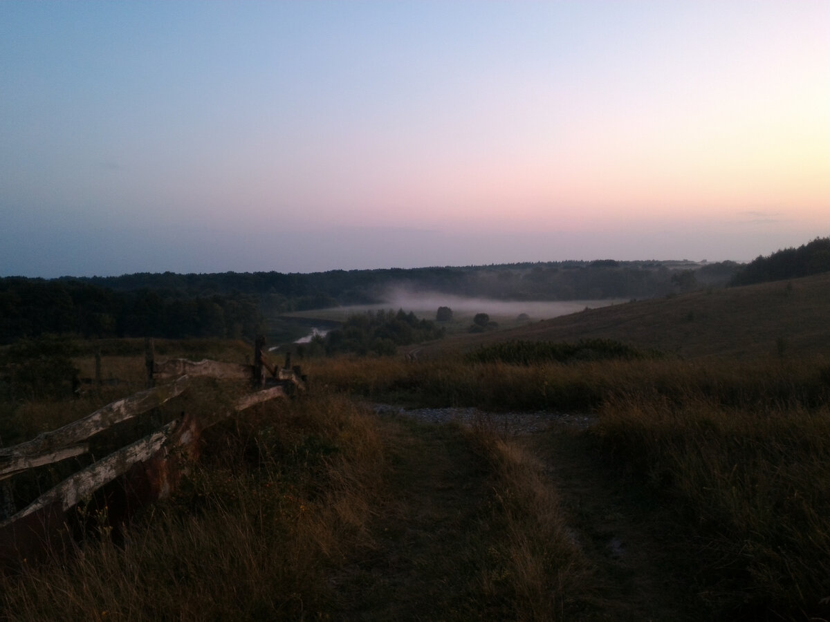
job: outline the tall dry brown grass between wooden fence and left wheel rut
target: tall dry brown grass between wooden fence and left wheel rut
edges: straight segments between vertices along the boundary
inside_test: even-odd
[[[167,503],[74,556],[3,577],[7,620],[262,620],[331,610],[325,581],[380,490],[364,411],[334,396],[258,406],[211,430],[203,465]]]

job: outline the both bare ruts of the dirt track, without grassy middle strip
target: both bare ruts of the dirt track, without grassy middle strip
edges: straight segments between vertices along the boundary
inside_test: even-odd
[[[593,567],[576,610],[559,620],[706,620],[676,564],[665,516],[641,486],[598,459],[584,417],[482,416],[471,409],[379,409],[392,493],[371,527],[375,546],[333,583],[354,620],[510,620],[510,599],[482,591],[493,565],[491,479],[485,459],[447,420],[481,424],[530,451]],[[686,555],[677,556],[686,559]]]

